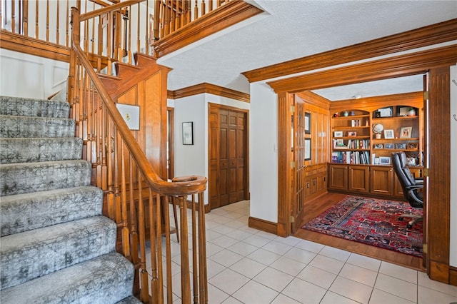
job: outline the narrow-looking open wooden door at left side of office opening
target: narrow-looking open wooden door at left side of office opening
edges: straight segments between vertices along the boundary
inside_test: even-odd
[[[294,105],[292,113],[292,134],[293,134],[293,166],[291,168],[293,196],[291,196],[291,233],[295,233],[300,228],[301,218],[303,218],[303,203],[305,200],[305,113],[303,101],[300,98],[291,96]]]

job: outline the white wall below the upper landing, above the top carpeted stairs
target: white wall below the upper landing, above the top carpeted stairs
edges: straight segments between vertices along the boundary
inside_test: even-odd
[[[66,87],[69,64],[0,49],[0,95],[48,98]]]

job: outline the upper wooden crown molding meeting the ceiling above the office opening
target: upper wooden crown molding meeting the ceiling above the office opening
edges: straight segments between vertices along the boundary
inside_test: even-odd
[[[273,64],[261,69],[246,71],[241,74],[246,76],[249,82],[256,82],[328,66],[336,66],[337,64],[370,59],[374,56],[408,51],[456,39],[457,19],[451,19],[400,34],[362,42],[361,44],[353,44],[352,46]]]

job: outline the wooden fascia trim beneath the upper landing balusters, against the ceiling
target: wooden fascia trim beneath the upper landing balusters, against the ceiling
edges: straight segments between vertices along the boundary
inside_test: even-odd
[[[156,41],[154,43],[154,52],[157,57],[165,56],[261,13],[263,13],[261,9],[245,1],[229,1],[209,14],[201,16],[181,29]]]

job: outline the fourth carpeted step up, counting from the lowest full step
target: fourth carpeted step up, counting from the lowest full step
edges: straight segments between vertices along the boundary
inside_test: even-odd
[[[88,186],[91,163],[83,160],[7,163],[0,166],[0,196]]]

